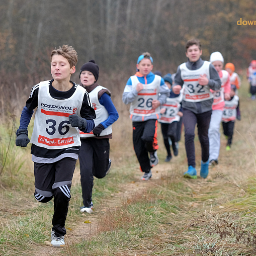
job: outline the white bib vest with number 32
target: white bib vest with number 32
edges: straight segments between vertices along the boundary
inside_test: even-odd
[[[184,81],[185,88],[184,101],[201,102],[213,98],[213,94],[211,93],[209,86],[200,86],[198,83],[200,75],[205,75],[210,79],[210,64],[211,63],[209,61],[204,61],[204,64],[196,70],[188,69],[186,63],[180,65],[181,77]]]

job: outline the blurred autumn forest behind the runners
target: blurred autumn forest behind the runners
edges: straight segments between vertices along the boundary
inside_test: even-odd
[[[124,69],[144,51],[174,72],[186,61],[185,43],[199,38],[203,57],[222,52],[245,67],[256,58],[253,0],[2,0],[0,68],[24,79],[49,73],[54,47],[73,46],[78,65],[95,59],[106,70]],[[165,70],[164,69],[164,70]]]

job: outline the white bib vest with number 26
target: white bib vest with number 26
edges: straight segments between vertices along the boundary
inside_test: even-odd
[[[132,90],[136,89],[140,82],[136,75],[131,76]],[[135,116],[150,116],[152,114],[160,114],[160,107],[152,109],[152,101],[158,99],[159,88],[161,84],[161,76],[155,75],[151,83],[143,84],[143,89],[138,93],[130,106],[130,114]]]

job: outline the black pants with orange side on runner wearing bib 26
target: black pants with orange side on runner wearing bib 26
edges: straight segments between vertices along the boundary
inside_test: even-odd
[[[145,122],[133,122],[133,147],[138,158],[142,172],[151,169],[148,152],[153,153],[157,145],[157,120],[150,119]]]

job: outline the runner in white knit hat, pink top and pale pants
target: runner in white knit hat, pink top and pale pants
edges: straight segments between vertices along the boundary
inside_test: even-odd
[[[230,76],[226,70],[222,70],[224,59],[220,52],[213,52],[210,56],[210,62],[217,70],[221,80],[221,89],[219,91],[212,91],[214,98],[212,104],[211,122],[208,131],[210,143],[209,165],[216,165],[218,164],[218,157],[220,152],[219,129],[225,105],[224,100],[228,101],[230,99]]]

